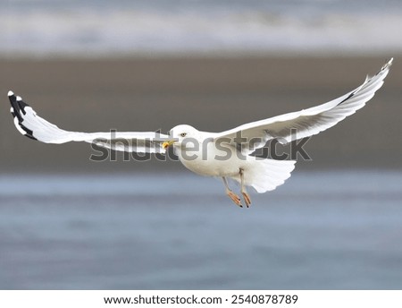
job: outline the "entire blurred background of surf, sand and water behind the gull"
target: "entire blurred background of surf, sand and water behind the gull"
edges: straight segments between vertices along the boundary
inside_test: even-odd
[[[0,6],[0,288],[402,288],[399,1]],[[169,158],[24,138],[7,99],[73,131],[222,131],[337,98],[392,56],[367,106],[248,210]]]

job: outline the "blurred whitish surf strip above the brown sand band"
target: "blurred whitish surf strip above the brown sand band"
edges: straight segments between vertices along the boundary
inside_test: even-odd
[[[0,55],[396,52],[398,0],[0,0]]]

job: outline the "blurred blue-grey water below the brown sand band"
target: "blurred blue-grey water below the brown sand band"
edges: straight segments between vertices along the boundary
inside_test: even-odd
[[[239,209],[191,174],[0,175],[0,288],[400,289],[401,188],[295,172]]]

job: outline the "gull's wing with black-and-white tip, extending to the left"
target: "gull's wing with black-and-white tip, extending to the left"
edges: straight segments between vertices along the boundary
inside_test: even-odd
[[[21,97],[8,92],[11,113],[17,130],[33,140],[46,143],[64,143],[69,141],[85,141],[113,150],[142,153],[162,153],[161,144],[168,138],[161,133],[109,132],[109,133],[79,133],[60,129],[47,122],[26,104]]]

